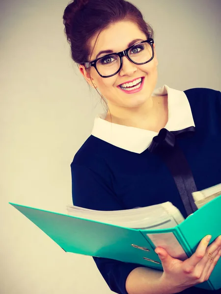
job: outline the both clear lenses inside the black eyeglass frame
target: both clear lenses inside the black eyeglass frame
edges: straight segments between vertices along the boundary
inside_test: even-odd
[[[143,63],[152,58],[153,51],[149,43],[141,43],[132,47],[128,55],[134,62]],[[101,75],[108,76],[114,74],[120,68],[120,57],[116,54],[110,54],[99,59],[96,66]]]

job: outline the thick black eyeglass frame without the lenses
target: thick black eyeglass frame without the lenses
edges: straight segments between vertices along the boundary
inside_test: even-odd
[[[148,60],[148,61],[146,61],[146,62],[137,63],[137,62],[133,61],[133,60],[130,58],[130,56],[128,55],[128,52],[129,52],[129,50],[130,50],[131,48],[133,48],[133,47],[135,47],[135,46],[138,46],[138,45],[141,44],[141,43],[149,43],[149,44],[150,44],[150,46],[151,46],[151,48],[152,48],[152,57],[150,58],[150,60]],[[110,77],[110,76],[113,76],[113,75],[119,73],[119,71],[121,70],[121,68],[122,68],[122,64],[123,64],[123,56],[127,56],[127,57],[130,59],[130,61],[132,61],[133,63],[138,64],[138,65],[141,65],[141,64],[145,64],[145,63],[150,62],[150,61],[154,58],[154,48],[153,48],[153,44],[154,44],[154,40],[153,40],[152,38],[149,38],[149,39],[147,39],[147,40],[145,40],[145,41],[141,41],[141,42],[139,42],[139,43],[137,43],[137,44],[134,44],[134,45],[132,45],[131,47],[129,47],[129,48],[127,48],[126,50],[123,50],[123,51],[121,51],[121,52],[109,53],[109,54],[106,54],[106,55],[104,55],[104,56],[102,56],[102,57],[99,57],[99,58],[97,58],[97,59],[95,59],[95,60],[92,60],[92,61],[90,61],[90,62],[84,62],[84,66],[85,66],[86,69],[88,69],[89,67],[93,66],[93,67],[96,69],[97,73],[98,73],[101,77]],[[97,69],[97,66],[96,66],[97,61],[100,60],[101,58],[105,58],[105,57],[107,57],[107,56],[109,56],[109,55],[113,55],[113,54],[116,54],[116,55],[118,55],[118,56],[120,57],[120,68],[119,68],[119,70],[118,70],[116,73],[113,73],[113,74],[110,74],[110,75],[102,75],[101,73],[99,73],[99,71],[98,71],[98,69]]]

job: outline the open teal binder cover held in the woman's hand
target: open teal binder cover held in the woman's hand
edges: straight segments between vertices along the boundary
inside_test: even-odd
[[[221,235],[221,196],[202,206],[177,226],[158,230],[131,229],[11,202],[9,204],[66,252],[137,263],[156,270],[163,268],[150,236],[172,236],[182,246],[184,254],[190,257],[203,237],[212,235],[211,243]],[[196,287],[207,290],[221,288],[221,259],[209,280]]]

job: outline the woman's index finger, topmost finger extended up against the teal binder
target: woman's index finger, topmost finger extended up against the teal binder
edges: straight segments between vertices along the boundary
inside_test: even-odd
[[[210,239],[211,236],[207,235],[200,241],[193,255],[184,261],[184,268],[193,269],[203,259]]]

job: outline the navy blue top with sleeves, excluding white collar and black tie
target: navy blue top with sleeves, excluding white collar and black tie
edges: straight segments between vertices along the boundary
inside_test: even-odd
[[[221,92],[206,88],[184,91],[195,123],[192,137],[178,139],[197,190],[221,183]],[[133,140],[133,138],[131,138]],[[187,217],[174,179],[161,158],[140,154],[91,135],[71,164],[73,204],[95,210],[121,210],[170,201]],[[93,257],[113,292],[127,294],[125,282],[138,264]],[[191,287],[183,292],[220,293]]]

